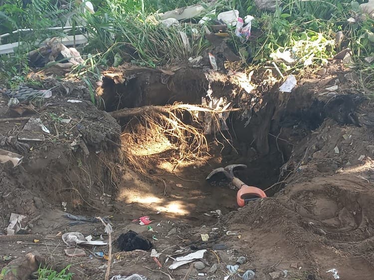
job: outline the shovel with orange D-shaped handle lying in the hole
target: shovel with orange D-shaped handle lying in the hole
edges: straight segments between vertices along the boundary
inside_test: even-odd
[[[256,187],[248,186],[242,180],[235,177],[235,168],[247,168],[247,165],[230,164],[226,167],[219,167],[213,169],[213,171],[211,171],[209,175],[206,177],[206,180],[210,179],[213,175],[222,172],[226,176],[226,178],[229,179],[231,183],[238,189],[238,192],[236,193],[236,202],[239,205],[239,207],[243,207],[245,203],[248,201],[266,197],[266,194],[263,192],[263,190]]]

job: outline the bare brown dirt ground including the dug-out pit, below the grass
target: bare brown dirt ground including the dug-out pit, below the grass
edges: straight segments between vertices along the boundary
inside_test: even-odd
[[[242,76],[188,67],[118,68],[103,73],[99,109],[87,101],[85,87],[53,79],[42,80],[44,88],[55,87],[39,107],[7,108],[2,99],[1,118],[8,120],[0,119],[1,145],[24,158],[16,167],[0,165],[1,229],[10,213],[32,220],[19,232],[32,234],[28,240],[0,236],[2,267],[37,251],[38,262],[46,259],[56,270],[70,264],[73,279],[104,279],[108,261],[97,253],[107,256],[108,246],[79,246],[86,256],[65,255],[61,234],[96,239],[104,233],[101,223],[67,219],[71,213],[108,216],[114,241],[133,230],[161,253],[158,264],[147,251],[120,253],[114,242],[110,277],[242,279],[252,270],[259,280],[332,280],[335,269],[342,280],[372,279],[372,103],[355,92],[342,70],[330,68],[291,93],[279,92],[268,74],[254,74],[249,84]],[[247,93],[250,85],[255,86]],[[326,90],[333,85],[335,93]],[[230,102],[230,112],[222,117],[227,127],[211,126],[204,138],[183,124],[201,132],[207,118],[198,124],[201,116],[186,110],[157,111],[176,103],[201,105],[207,92]],[[50,133],[22,150],[18,141],[6,139],[19,137],[25,117],[40,118]],[[235,175],[268,197],[239,208],[237,190],[224,176],[205,179],[228,164],[246,164]],[[151,227],[133,221],[142,216],[150,217]],[[193,263],[168,268],[176,257],[201,249],[207,250],[204,269],[197,271]],[[241,256],[246,262],[230,275],[226,266]],[[212,272],[214,264],[218,269]]]

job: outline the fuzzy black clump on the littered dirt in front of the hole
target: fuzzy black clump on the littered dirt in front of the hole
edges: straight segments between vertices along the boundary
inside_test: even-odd
[[[134,250],[150,250],[153,245],[151,241],[130,230],[127,233],[121,234],[117,239],[118,248],[121,251],[130,252]]]

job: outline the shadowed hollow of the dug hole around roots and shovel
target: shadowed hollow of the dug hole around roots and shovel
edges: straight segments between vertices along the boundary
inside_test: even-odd
[[[130,78],[126,82],[121,79],[115,81],[113,76],[104,78],[101,97],[105,108],[102,109],[113,112],[123,108],[138,108],[148,105],[163,106],[175,102],[201,104],[201,97],[206,95],[208,86],[217,97],[230,97],[233,92],[238,92],[237,85],[231,84],[222,77],[216,77],[215,82],[208,82],[202,71],[188,68],[178,71],[172,76],[153,69],[130,70],[123,76]],[[238,102],[237,96],[231,99],[234,104]],[[129,139],[133,140],[134,146],[128,150],[133,153],[132,156],[137,153],[137,150],[143,150],[141,155],[135,154],[139,156],[138,161],[143,164],[140,167],[144,168],[145,173],[151,175],[154,181],[155,174],[165,175],[161,177],[170,199],[196,204],[198,201],[188,200],[190,196],[193,196],[192,193],[200,191],[199,194],[203,194],[201,197],[204,203],[201,207],[185,207],[189,212],[179,214],[200,213],[222,208],[223,212],[227,213],[237,208],[236,190],[230,190],[227,180],[220,175],[214,176],[211,181],[206,181],[205,176],[213,168],[228,164],[246,164],[247,168],[235,172],[235,175],[247,185],[263,190],[267,189],[274,183],[281,181],[288,174],[288,170],[293,168],[293,166],[289,166],[281,173],[281,167],[287,163],[297,144],[305,139],[312,130],[318,128],[326,117],[330,117],[325,112],[329,111],[332,116],[339,119],[345,111],[350,110],[350,106],[346,106],[346,102],[341,102],[341,105],[343,104],[341,106],[339,100],[337,101],[339,106],[336,106],[335,101],[329,106],[336,107],[336,110],[340,111],[330,110],[324,102],[313,101],[312,91],[303,87],[292,95],[288,95],[288,100],[283,100],[284,96],[281,96],[278,91],[262,93],[261,96],[260,103],[262,105],[255,113],[252,113],[248,126],[245,126],[247,119],[241,120],[238,113],[230,113],[227,119],[229,128],[227,132],[224,132],[223,135],[206,136],[209,143],[209,158],[205,158],[200,165],[196,163],[197,167],[191,162],[187,165],[178,165],[178,169],[175,170],[180,175],[182,174],[185,180],[178,180],[180,177],[173,174],[173,168],[177,163],[175,157],[178,157],[177,149],[169,147],[168,150],[168,148],[162,147],[162,136],[157,132],[152,132],[147,123],[142,122],[139,116],[120,119],[123,133],[131,136],[126,141],[123,138],[122,145],[128,145]],[[183,120],[187,122],[186,118]],[[345,120],[342,122],[344,123]],[[225,138],[229,141],[226,141]],[[158,144],[159,147],[156,148],[155,144]],[[148,155],[158,156],[149,160],[147,152]],[[148,164],[147,161],[149,161]],[[134,169],[139,170],[138,167]],[[167,176],[167,173],[171,176]],[[194,183],[185,182],[186,178],[187,180],[192,179],[191,181]],[[154,184],[147,179],[144,179],[144,183],[146,185]],[[180,191],[175,188],[176,183],[182,184],[185,189]],[[284,184],[277,184],[267,190],[266,194],[273,196],[283,187]],[[138,191],[141,193],[140,196],[153,193],[153,198],[155,196],[157,199],[163,197],[161,191],[157,193],[152,190],[151,186],[144,186]],[[199,214],[197,217],[201,217],[201,215]],[[200,223],[200,221],[197,222]]]

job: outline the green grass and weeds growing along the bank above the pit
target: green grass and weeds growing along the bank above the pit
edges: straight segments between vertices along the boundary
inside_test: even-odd
[[[93,81],[100,79],[103,67],[118,66],[124,62],[147,67],[167,66],[185,63],[189,57],[206,55],[211,45],[204,37],[203,26],[187,21],[166,28],[154,14],[196,2],[93,0],[96,12],[80,14],[87,22],[90,34],[88,45],[82,51],[88,53],[88,59],[73,69],[73,73],[89,87],[92,102],[95,103]],[[357,65],[362,65],[364,57],[373,55],[374,20],[364,19],[359,11],[361,2],[363,0],[285,0],[273,12],[258,10],[254,0],[220,0],[215,7],[216,13],[237,8],[241,16],[251,14],[255,17],[252,36],[247,42],[236,37],[235,27],[228,29],[230,37],[226,42],[243,57],[241,70],[267,67],[275,62],[282,74],[288,75],[317,71],[343,47],[352,49]],[[36,31],[29,34],[32,38],[18,35],[19,39],[32,45],[35,38],[40,40],[54,35],[45,30],[46,26],[53,25],[51,18],[61,17],[73,7],[74,2],[71,1],[69,8],[61,11],[47,0],[36,0],[22,9],[17,6],[17,0],[10,0],[0,7],[0,21],[4,23],[4,30],[19,27],[20,24],[34,27]],[[45,20],[35,20],[36,17],[45,17]],[[349,17],[355,18],[356,22],[347,22]],[[338,31],[344,33],[340,46],[335,44]],[[190,48],[185,46],[181,32],[186,33]],[[293,62],[273,59],[275,53],[282,52],[289,52]],[[241,55],[243,53],[244,56]],[[13,58],[1,59],[0,68],[4,71],[0,74],[0,81],[12,88],[22,83],[25,74],[30,71],[25,61],[22,49],[18,49]],[[372,89],[370,79],[373,78],[373,69],[368,65],[365,67],[360,70],[362,84]]]

